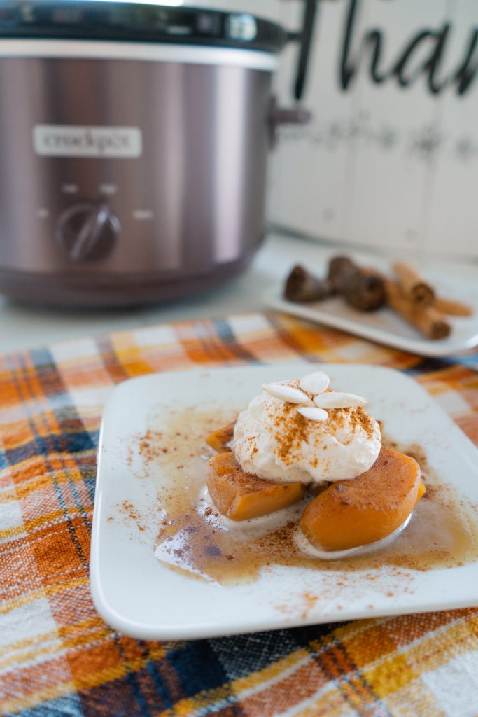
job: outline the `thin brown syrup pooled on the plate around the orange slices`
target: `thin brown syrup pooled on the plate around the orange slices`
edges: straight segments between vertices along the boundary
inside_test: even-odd
[[[478,559],[478,524],[473,508],[454,488],[440,481],[419,447],[399,446],[386,438],[386,445],[419,462],[426,494],[406,530],[385,548],[336,561],[302,554],[295,534],[312,496],[271,516],[225,526],[204,493],[206,462],[211,455],[204,438],[211,430],[234,421],[240,409],[168,409],[167,430],[158,415],[153,415],[148,432],[138,436],[136,449],[144,467],[138,478],[155,481],[158,489],[155,549],[163,564],[186,571],[191,577],[226,585],[253,581],[261,571],[277,565],[340,574],[365,571],[364,577],[386,567],[393,578],[403,570],[450,568]]]

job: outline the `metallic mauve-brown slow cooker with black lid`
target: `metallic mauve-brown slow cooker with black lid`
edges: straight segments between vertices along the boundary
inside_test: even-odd
[[[307,118],[271,80],[311,4],[300,36],[239,12],[2,2],[0,292],[134,305],[244,270],[274,128]]]

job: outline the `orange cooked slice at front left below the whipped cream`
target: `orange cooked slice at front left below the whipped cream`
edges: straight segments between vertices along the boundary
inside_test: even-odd
[[[244,473],[232,452],[209,459],[206,485],[220,513],[231,521],[274,513],[296,503],[305,493],[302,483],[272,483]]]

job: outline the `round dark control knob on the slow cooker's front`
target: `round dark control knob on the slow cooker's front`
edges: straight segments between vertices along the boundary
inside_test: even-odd
[[[113,251],[120,222],[105,203],[80,202],[60,214],[57,239],[75,262],[103,259]]]

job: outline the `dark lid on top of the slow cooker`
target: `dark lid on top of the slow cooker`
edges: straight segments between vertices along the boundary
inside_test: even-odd
[[[279,52],[288,35],[249,13],[112,0],[4,0],[0,38],[168,42]]]

